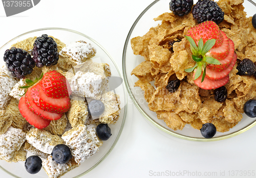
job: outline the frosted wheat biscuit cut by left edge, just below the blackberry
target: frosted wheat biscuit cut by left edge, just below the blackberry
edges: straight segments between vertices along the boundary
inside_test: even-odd
[[[16,83],[17,81],[8,74],[0,72],[0,109],[3,109],[7,102],[11,99],[9,93]]]

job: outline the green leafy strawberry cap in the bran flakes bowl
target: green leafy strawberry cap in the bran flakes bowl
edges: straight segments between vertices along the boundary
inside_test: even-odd
[[[190,50],[193,54],[192,59],[197,62],[194,67],[185,69],[185,71],[192,72],[195,70],[195,68],[197,68],[194,80],[197,80],[203,71],[203,76],[202,76],[202,80],[201,80],[201,82],[203,82],[205,75],[206,75],[206,65],[207,64],[217,64],[217,65],[221,64],[220,61],[218,61],[217,59],[205,56],[205,54],[215,45],[216,39],[210,39],[204,43],[203,39],[200,38],[200,40],[198,42],[198,46],[197,46],[197,44],[193,40],[193,38],[191,38],[190,36],[185,36],[185,38],[190,43]]]

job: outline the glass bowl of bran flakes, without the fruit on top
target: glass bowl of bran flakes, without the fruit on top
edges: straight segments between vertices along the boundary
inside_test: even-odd
[[[188,62],[192,53],[185,35],[199,22],[191,12],[174,15],[169,3],[160,0],[149,5],[136,19],[125,41],[124,82],[135,106],[158,129],[186,140],[222,140],[252,128],[256,119],[244,114],[243,108],[246,101],[256,98],[253,90],[256,80],[253,75],[237,74],[237,66],[246,58],[255,62],[255,36],[251,35],[256,32],[251,23],[255,3],[217,2],[225,14],[218,27],[233,41],[232,54],[237,56],[224,84],[225,101],[215,99],[216,88],[198,87],[193,72],[185,71],[195,64],[195,60],[193,65]],[[211,83],[216,82],[208,85]],[[214,137],[202,136],[200,129],[205,123],[215,125]]]

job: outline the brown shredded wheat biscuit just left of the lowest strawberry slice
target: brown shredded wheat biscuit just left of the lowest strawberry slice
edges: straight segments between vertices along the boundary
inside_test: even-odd
[[[20,114],[18,109],[18,102],[19,100],[15,98],[11,98],[9,105],[6,107],[12,114],[12,126],[16,129],[21,129],[25,131],[25,125],[28,123],[27,120]]]

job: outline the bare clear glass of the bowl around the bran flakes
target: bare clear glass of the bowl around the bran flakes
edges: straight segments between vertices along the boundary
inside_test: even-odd
[[[243,114],[243,119],[234,128],[230,129],[228,132],[217,134],[211,139],[205,139],[202,137],[199,130],[192,128],[189,124],[186,124],[182,131],[174,131],[166,126],[163,120],[159,120],[155,112],[148,109],[147,103],[144,99],[144,92],[140,87],[134,87],[134,84],[138,79],[135,75],[131,75],[132,70],[139,65],[144,60],[144,57],[140,55],[134,55],[131,47],[131,39],[137,36],[143,36],[150,30],[151,27],[156,27],[161,21],[154,21],[154,18],[158,17],[164,12],[170,12],[169,10],[169,0],[156,0],[150,4],[135,20],[129,34],[127,35],[122,57],[122,68],[124,83],[133,103],[141,114],[155,125],[158,129],[181,139],[193,140],[193,141],[214,141],[230,138],[245,132],[246,130],[252,128],[256,124],[255,118],[248,118]],[[197,1],[194,1],[196,4]],[[244,2],[245,11],[247,12],[247,17],[253,16],[256,9],[256,4],[252,1]]]

